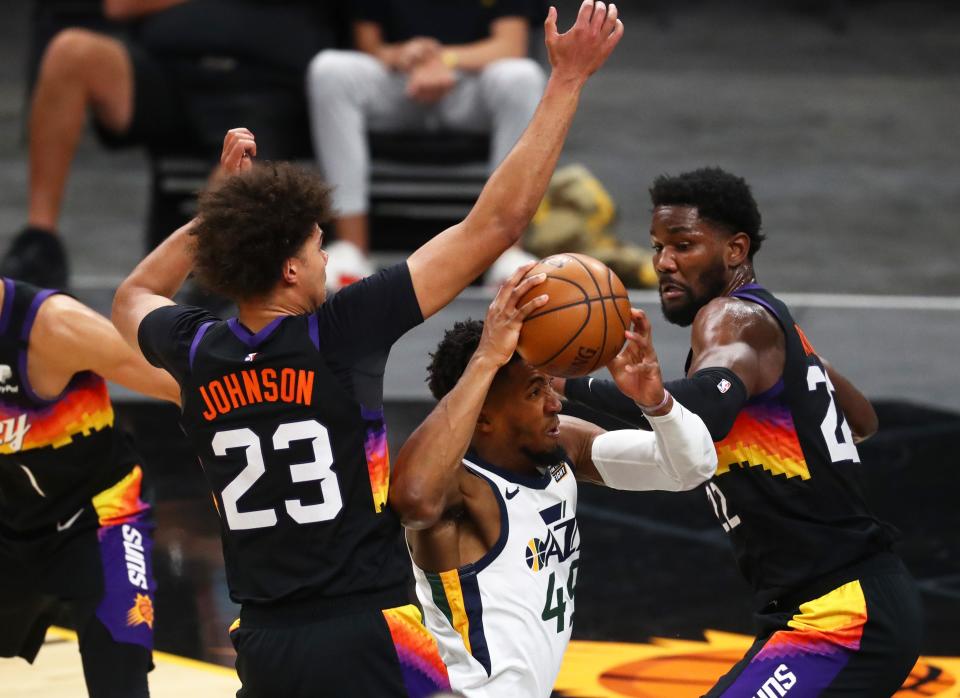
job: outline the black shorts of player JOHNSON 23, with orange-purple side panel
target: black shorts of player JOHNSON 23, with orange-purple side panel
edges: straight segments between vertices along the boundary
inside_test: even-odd
[[[237,698],[426,698],[450,690],[415,606],[299,624],[241,614],[230,629],[243,684]]]

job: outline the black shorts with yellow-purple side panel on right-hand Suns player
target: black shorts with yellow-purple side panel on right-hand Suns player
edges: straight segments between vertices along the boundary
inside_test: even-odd
[[[757,640],[707,696],[892,696],[919,656],[922,611],[903,563],[887,567],[760,614]]]

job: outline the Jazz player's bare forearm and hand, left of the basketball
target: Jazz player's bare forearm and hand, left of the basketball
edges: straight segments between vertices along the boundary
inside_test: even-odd
[[[407,528],[430,528],[451,504],[447,500],[456,489],[460,461],[490,385],[516,351],[524,318],[546,302],[546,296],[537,296],[517,307],[523,294],[546,278],[537,274],[523,279],[532,266],[518,269],[500,288],[466,371],[400,449],[390,479],[390,506]]]

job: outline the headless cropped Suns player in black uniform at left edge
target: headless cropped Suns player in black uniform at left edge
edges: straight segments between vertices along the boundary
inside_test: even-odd
[[[0,279],[0,657],[32,662],[66,611],[89,695],[138,698],[153,647],[153,521],[104,378],[178,399],[106,318]]]

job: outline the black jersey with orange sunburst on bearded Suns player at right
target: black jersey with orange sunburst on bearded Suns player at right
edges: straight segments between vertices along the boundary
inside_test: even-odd
[[[766,309],[786,338],[780,380],[752,397],[716,443],[717,474],[707,484],[765,605],[888,550],[891,536],[864,503],[850,427],[787,306],[757,284],[731,295]]]

